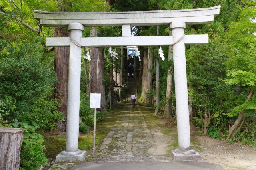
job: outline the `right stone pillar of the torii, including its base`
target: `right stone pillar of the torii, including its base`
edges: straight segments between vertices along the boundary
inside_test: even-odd
[[[188,87],[186,73],[186,55],[184,29],[186,23],[174,21],[170,24],[173,36],[173,63],[178,128],[178,149],[172,150],[174,161],[201,160],[198,152],[190,148],[190,123],[188,113]]]

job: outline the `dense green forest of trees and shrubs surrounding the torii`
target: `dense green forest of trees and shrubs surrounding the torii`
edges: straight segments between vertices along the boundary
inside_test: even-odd
[[[185,34],[208,34],[209,43],[186,45],[190,123],[199,135],[256,146],[256,1],[255,0],[1,0],[0,1],[0,127],[22,128],[23,169],[47,161],[46,131],[65,131],[69,47],[47,47],[46,37],[68,37],[67,28],[39,25],[32,10],[101,12],[178,10],[221,5],[210,24],[186,26]],[[132,25],[132,24],[131,24]],[[168,36],[169,26],[132,26],[134,36]],[[86,27],[83,37],[122,36],[122,27]],[[94,124],[89,94],[101,93],[97,121],[116,100],[114,83],[127,79],[126,47],[90,47],[91,61],[82,58],[80,131]],[[175,87],[172,46],[138,47],[135,58],[138,101],[155,115],[175,124]],[[82,49],[86,54],[86,49]],[[81,56],[82,57],[82,56]],[[116,98],[116,99],[115,99]]]

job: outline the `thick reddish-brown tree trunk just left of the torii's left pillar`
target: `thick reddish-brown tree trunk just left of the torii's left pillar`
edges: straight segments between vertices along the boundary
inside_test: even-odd
[[[69,36],[70,32],[68,32],[67,28],[54,28],[54,37]],[[61,104],[60,111],[66,117],[68,111],[69,47],[55,47],[54,51],[54,71],[57,74],[58,82],[55,83],[53,94],[54,98],[57,98]],[[60,131],[66,131],[66,121],[58,121],[57,128]]]

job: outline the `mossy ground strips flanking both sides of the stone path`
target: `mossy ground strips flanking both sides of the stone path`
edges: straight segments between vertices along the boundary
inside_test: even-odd
[[[117,105],[115,109],[112,109],[103,122],[96,124],[96,147],[100,146],[111,130],[111,128],[116,125],[118,122],[118,116],[122,114],[123,105]],[[131,107],[132,109],[132,107]],[[144,116],[145,122],[148,126],[148,129],[152,130],[155,127],[160,128],[160,132],[164,135],[170,136],[170,141],[166,143],[168,150],[166,153],[170,153],[170,150],[178,148],[178,136],[176,126],[168,125],[166,119],[161,119],[160,117],[154,116],[154,110],[148,107],[140,106],[141,112]],[[56,155],[58,155],[62,150],[65,150],[66,145],[66,136],[57,137],[56,135],[45,135],[45,147],[46,147],[46,157],[54,160]],[[191,137],[192,148],[200,152],[202,149],[200,144],[194,140],[194,137]],[[78,148],[81,150],[86,150],[88,152],[86,160],[90,160],[92,155],[93,147],[93,131],[90,131],[90,134],[81,134],[79,135],[79,144]]]

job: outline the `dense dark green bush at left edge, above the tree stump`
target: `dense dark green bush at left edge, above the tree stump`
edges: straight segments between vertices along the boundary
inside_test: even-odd
[[[1,48],[0,94],[11,96],[17,108],[6,119],[19,119],[32,110],[36,99],[51,94],[55,74],[51,67],[40,62],[42,47],[38,43],[26,42],[21,48],[4,43]]]

